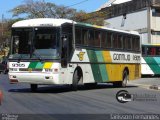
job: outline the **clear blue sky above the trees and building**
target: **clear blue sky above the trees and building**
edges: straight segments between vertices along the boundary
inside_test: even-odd
[[[2,19],[2,14],[4,15],[4,18],[12,18],[12,14],[9,12],[12,8],[24,4],[25,0],[0,0],[0,18]],[[84,0],[44,0],[45,2],[53,2],[56,5],[64,5],[64,6],[70,6],[76,3],[80,3]],[[83,2],[81,4],[72,6],[72,8],[75,8],[77,10],[84,10],[86,12],[92,12],[98,9],[100,6],[105,4],[108,0],[87,0],[86,2]]]

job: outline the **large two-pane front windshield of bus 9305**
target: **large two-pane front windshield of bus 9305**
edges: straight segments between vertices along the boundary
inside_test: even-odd
[[[59,59],[58,28],[14,28],[11,55],[13,59]]]

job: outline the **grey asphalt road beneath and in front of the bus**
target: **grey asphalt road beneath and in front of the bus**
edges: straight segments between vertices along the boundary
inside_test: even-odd
[[[68,86],[40,86],[36,93],[30,92],[28,84],[9,84],[7,75],[0,75],[0,90],[4,99],[0,114],[145,114],[160,113],[160,91],[134,85],[113,88],[100,84],[96,88],[80,86],[71,91]],[[127,90],[130,94],[154,97],[154,100],[135,100],[119,103],[116,93]],[[145,96],[146,97],[146,96]]]

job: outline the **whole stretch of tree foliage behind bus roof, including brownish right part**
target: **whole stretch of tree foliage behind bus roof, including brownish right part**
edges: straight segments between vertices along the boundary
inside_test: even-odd
[[[103,25],[104,20],[97,14],[87,14],[84,11],[77,11],[73,8],[34,0],[25,0],[24,4],[13,8],[10,12],[12,12],[13,17],[25,15],[26,18],[66,18],[97,25]]]

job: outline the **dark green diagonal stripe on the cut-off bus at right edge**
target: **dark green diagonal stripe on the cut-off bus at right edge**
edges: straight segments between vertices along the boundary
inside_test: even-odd
[[[146,63],[149,65],[149,67],[152,69],[154,74],[160,74],[160,67],[153,57],[146,57],[144,59]]]

